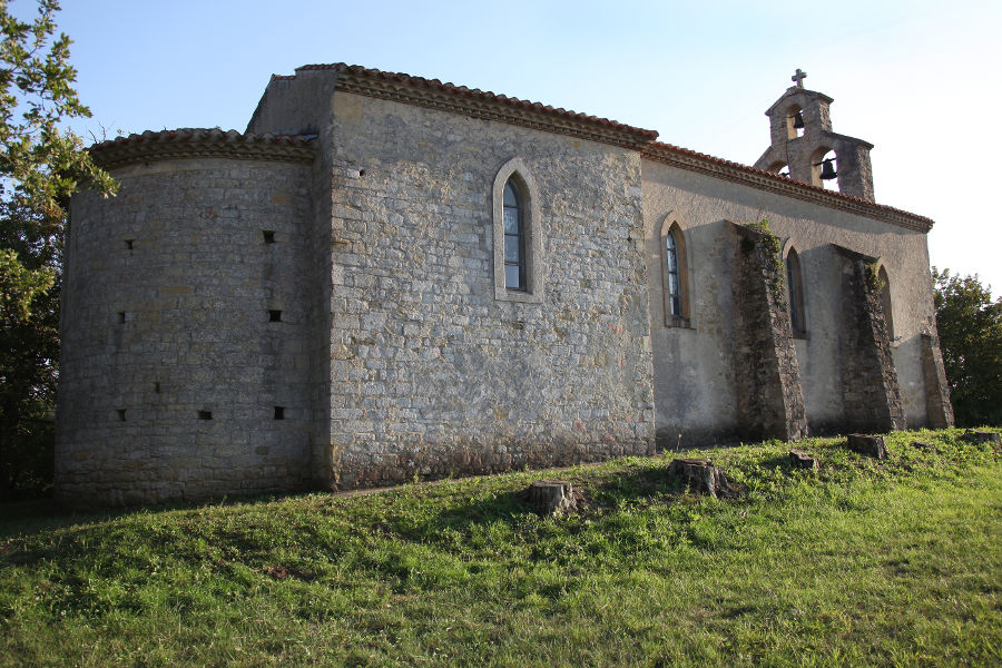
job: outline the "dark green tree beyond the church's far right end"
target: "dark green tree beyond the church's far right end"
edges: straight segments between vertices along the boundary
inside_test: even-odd
[[[933,267],[936,324],[957,425],[1002,424],[1002,297]]]

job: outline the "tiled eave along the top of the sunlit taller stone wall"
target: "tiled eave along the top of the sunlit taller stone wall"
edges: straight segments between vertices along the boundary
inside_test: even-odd
[[[658,134],[632,126],[530,102],[490,91],[443,84],[409,75],[384,72],[344,63],[307,65],[296,72],[334,70],[335,90],[393,100],[461,114],[483,120],[494,120],[547,132],[569,135],[581,139],[620,146],[635,150],[651,143]]]

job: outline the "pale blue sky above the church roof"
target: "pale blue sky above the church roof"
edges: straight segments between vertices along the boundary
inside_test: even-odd
[[[16,12],[31,0],[13,0]],[[658,130],[752,164],[790,86],[835,98],[876,199],[936,222],[933,264],[1002,294],[1002,2],[63,0],[78,91],[114,137],[243,130],[272,73],[348,62]]]

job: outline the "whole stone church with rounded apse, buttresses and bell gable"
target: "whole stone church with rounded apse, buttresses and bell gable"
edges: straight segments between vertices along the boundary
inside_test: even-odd
[[[92,147],[121,189],[71,204],[57,495],[951,424],[933,223],[793,80],[754,167],[346,65],[272,77],[243,134]]]

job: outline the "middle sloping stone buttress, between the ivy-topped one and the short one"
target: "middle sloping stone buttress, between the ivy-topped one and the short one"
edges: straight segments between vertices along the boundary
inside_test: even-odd
[[[872,257],[835,246],[842,257],[842,386],[846,431],[905,429],[897,371]]]

